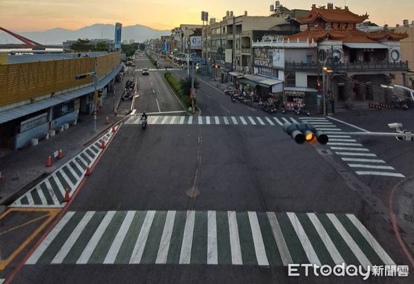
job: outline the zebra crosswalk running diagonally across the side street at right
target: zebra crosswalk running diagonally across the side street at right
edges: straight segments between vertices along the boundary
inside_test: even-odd
[[[342,161],[355,170],[359,176],[393,176],[404,178],[395,168],[386,165],[386,162],[379,159],[364,145],[359,143],[352,136],[345,135],[342,129],[324,117],[301,117],[302,122],[312,123],[317,130],[322,130],[329,137],[328,147],[339,155]],[[380,165],[379,165],[380,164]]]

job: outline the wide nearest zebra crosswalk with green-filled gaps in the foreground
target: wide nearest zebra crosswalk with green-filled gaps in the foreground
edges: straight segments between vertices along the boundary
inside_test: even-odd
[[[34,264],[393,265],[353,214],[67,212]]]

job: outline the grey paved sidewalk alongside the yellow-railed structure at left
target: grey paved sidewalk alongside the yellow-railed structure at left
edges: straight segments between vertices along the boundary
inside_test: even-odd
[[[129,77],[124,77],[124,81],[116,83],[115,108],[121,98],[124,85]],[[33,183],[54,172],[61,165],[72,159],[77,153],[81,152],[84,144],[97,138],[100,132],[110,128],[125,114],[115,116],[113,112],[114,100],[113,93],[108,92],[103,105],[97,114],[97,131],[92,133],[93,115],[79,114],[77,125],[70,126],[68,130],[57,133],[55,137],[45,141],[40,141],[37,146],[28,146],[21,150],[0,149],[0,172],[1,176],[6,177],[4,183],[0,183],[0,205],[7,205],[12,198],[18,197],[33,186]],[[109,117],[109,124],[105,124],[106,116]],[[52,157],[52,167],[46,168],[46,159],[57,150],[63,151],[63,159],[57,160]],[[16,195],[16,196],[15,196]]]

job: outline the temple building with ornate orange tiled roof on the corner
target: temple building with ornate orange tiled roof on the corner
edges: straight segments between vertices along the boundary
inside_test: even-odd
[[[323,98],[331,107],[349,101],[354,105],[385,101],[386,90],[380,85],[390,83],[396,74],[406,77],[408,72],[400,57],[400,40],[407,35],[389,30],[362,32],[357,24],[368,19],[368,14],[359,16],[348,7],[333,8],[331,3],[327,7],[313,5],[306,17],[297,17],[306,25],[303,32],[283,40],[253,43],[255,74],[283,81],[286,103],[297,101],[319,108]],[[324,67],[328,68],[325,72]],[[324,77],[323,90],[317,90]],[[263,84],[255,85],[259,93],[273,91]]]

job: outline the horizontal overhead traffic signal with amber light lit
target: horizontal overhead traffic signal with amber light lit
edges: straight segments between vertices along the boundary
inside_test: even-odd
[[[285,123],[283,130],[298,144],[319,142],[326,145],[329,141],[328,135],[317,130],[311,123]]]

